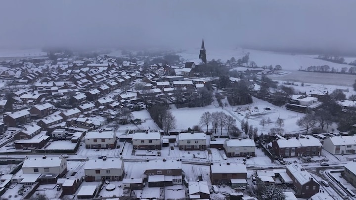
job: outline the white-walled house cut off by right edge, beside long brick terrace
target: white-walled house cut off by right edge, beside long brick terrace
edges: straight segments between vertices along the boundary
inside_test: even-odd
[[[355,154],[356,135],[328,137],[323,148],[333,155]]]

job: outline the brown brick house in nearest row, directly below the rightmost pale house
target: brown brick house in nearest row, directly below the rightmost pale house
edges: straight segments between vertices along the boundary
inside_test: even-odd
[[[226,164],[221,163],[210,165],[210,180],[213,185],[228,185],[229,183],[235,181],[233,179],[245,180],[246,178],[247,169],[244,164],[227,162]]]

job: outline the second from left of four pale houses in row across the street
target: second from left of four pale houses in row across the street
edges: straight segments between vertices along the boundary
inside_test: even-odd
[[[161,134],[159,132],[136,132],[133,135],[134,149],[158,149],[161,150]]]

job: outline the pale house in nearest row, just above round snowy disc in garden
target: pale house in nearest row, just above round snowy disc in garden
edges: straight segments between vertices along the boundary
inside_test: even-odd
[[[120,159],[88,160],[84,166],[85,181],[122,181],[125,169]]]

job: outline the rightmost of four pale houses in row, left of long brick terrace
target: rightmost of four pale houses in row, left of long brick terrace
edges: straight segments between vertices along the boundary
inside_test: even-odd
[[[251,139],[232,139],[224,142],[227,157],[255,156],[255,148],[255,142]]]

